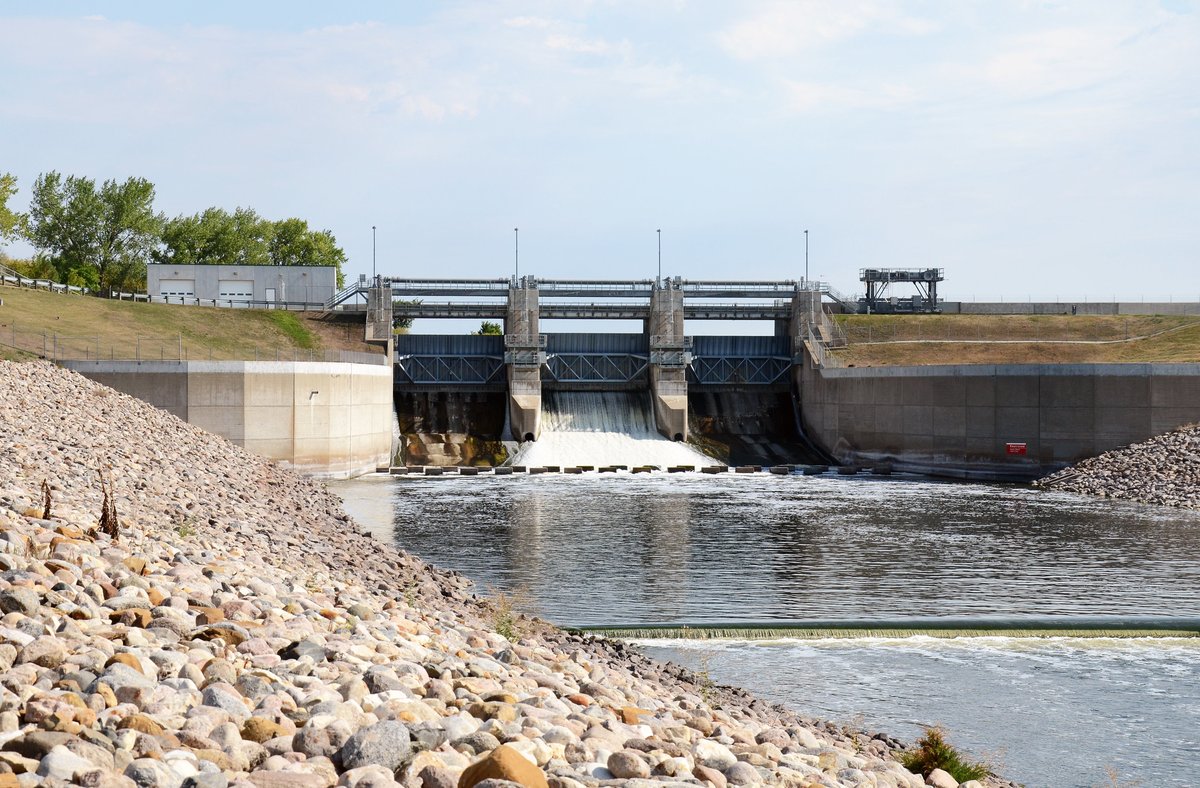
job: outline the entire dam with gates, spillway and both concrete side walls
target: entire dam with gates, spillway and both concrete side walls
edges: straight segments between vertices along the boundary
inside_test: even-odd
[[[565,465],[552,444],[589,443],[592,453],[571,464],[698,467],[698,451],[726,465],[1027,481],[1200,422],[1198,363],[844,366],[836,351],[846,339],[833,313],[857,311],[858,300],[804,279],[379,276],[310,306],[359,323],[386,353],[222,362],[188,359],[180,342],[175,359],[104,360],[64,356],[55,343],[54,360],[325,476],[396,462],[518,464],[517,452]],[[966,306],[938,301],[949,312]],[[1114,308],[1166,314],[1171,306]],[[1063,313],[1064,305],[1025,308]],[[500,333],[395,333],[404,319],[488,320]],[[544,331],[542,320],[607,323],[569,333]],[[767,329],[689,331],[706,320]],[[640,330],[611,331],[612,321]],[[653,443],[618,462],[608,451],[626,438]]]

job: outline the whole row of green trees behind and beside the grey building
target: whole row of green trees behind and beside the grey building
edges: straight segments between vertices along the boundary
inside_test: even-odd
[[[91,290],[144,290],[146,264],[331,265],[342,287],[346,252],[329,230],[301,218],[271,221],[248,207],[209,207],[167,218],[154,210],[155,187],[144,178],[96,184],[43,173],[34,181],[29,212],[8,207],[17,179],[0,173],[0,242],[28,241],[31,260],[7,265],[25,276]]]

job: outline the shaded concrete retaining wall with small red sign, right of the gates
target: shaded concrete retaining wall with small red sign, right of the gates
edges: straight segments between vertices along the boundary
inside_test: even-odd
[[[1200,365],[798,367],[809,437],[840,461],[1024,480],[1200,422]],[[1026,445],[1025,455],[1007,444]]]

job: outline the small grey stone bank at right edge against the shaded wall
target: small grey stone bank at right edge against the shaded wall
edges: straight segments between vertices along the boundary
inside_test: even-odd
[[[1200,509],[1200,425],[1090,457],[1033,483],[1097,498]]]

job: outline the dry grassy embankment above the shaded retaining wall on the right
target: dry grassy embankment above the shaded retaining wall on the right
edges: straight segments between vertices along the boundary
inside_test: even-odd
[[[1200,317],[838,315],[846,366],[1200,362]]]

